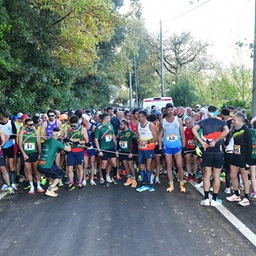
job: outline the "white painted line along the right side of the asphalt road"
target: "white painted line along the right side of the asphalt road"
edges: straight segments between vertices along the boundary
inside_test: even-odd
[[[196,183],[190,183],[197,191],[204,196],[204,190],[197,188]],[[242,207],[242,206],[241,206]],[[215,206],[215,208],[244,235],[254,246],[256,246],[256,235],[232,214],[224,205]],[[242,209],[241,209],[242,210]]]

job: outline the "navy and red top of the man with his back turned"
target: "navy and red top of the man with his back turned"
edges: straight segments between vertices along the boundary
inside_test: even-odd
[[[227,126],[227,123],[218,118],[207,118],[198,122],[198,125],[203,130],[202,140],[207,144],[210,144],[211,141],[217,139],[223,131],[224,126]],[[207,152],[221,152],[224,140],[219,140],[214,147],[209,147],[205,151]]]

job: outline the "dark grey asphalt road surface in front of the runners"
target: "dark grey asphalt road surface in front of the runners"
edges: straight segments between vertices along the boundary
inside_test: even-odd
[[[61,187],[57,198],[28,195],[20,184],[0,200],[0,255],[256,255],[236,224],[199,205],[202,195],[191,184],[187,193],[178,183],[168,193],[162,176],[155,192],[139,193],[124,187],[124,179],[109,188],[98,182],[71,192]],[[256,201],[223,205],[256,234]]]

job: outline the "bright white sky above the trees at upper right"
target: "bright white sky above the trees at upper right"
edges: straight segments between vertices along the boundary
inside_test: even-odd
[[[190,31],[196,39],[212,45],[208,52],[213,59],[224,64],[239,61],[252,68],[253,60],[248,57],[249,51],[238,57],[235,42],[244,41],[245,38],[246,42],[253,42],[255,0],[194,0],[193,5],[189,4],[189,0],[140,2],[146,28],[151,33],[159,34],[162,20],[164,38],[173,33]]]

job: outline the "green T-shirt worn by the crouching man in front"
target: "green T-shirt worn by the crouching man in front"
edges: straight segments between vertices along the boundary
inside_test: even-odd
[[[42,144],[42,153],[41,157],[38,161],[38,167],[40,168],[51,168],[55,156],[58,153],[59,149],[63,150],[65,148],[65,145],[54,139],[54,138],[49,138]]]

